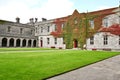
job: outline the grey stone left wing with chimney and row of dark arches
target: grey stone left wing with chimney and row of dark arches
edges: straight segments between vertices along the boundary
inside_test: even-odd
[[[0,20],[0,47],[36,47],[35,28],[30,24]]]

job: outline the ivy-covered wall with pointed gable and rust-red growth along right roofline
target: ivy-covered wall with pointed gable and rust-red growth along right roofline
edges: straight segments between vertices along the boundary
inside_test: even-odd
[[[93,36],[102,27],[102,19],[106,15],[113,14],[114,9],[116,8],[91,13],[79,13],[75,10],[66,21],[63,29],[66,48],[73,48],[74,40],[77,40],[78,48],[83,49],[86,39]],[[94,28],[91,28],[90,20],[94,21]]]

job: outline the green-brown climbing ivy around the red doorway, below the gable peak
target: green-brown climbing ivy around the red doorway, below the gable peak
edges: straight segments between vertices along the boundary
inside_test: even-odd
[[[73,48],[73,41],[78,41],[78,47],[83,49],[86,39],[92,36],[96,30],[90,28],[89,20],[97,18],[97,15],[72,15],[63,29],[66,48]],[[77,20],[77,23],[75,23]]]

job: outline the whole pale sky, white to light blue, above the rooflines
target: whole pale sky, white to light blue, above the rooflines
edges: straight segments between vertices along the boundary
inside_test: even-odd
[[[30,18],[54,19],[71,15],[75,9],[80,13],[119,6],[119,0],[0,0],[0,19],[21,23]]]

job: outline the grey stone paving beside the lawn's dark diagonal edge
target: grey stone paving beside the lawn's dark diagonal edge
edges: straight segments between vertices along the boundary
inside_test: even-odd
[[[120,55],[47,80],[120,80]]]

